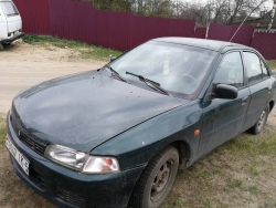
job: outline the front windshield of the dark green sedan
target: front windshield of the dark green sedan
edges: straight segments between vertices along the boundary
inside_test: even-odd
[[[159,83],[171,94],[191,95],[202,85],[215,55],[201,48],[150,41],[109,65],[127,80],[141,82],[130,72]]]

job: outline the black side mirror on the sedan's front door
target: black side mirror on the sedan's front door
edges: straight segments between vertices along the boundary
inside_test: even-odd
[[[227,84],[217,84],[212,95],[216,98],[235,100],[237,97],[237,89]]]

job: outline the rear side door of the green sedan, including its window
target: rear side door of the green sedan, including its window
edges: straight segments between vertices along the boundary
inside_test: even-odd
[[[251,51],[243,52],[251,91],[251,104],[242,131],[256,124],[272,97],[273,83],[269,71],[259,56]]]

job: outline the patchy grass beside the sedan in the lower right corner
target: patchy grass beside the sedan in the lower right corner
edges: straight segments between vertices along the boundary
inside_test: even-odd
[[[167,207],[275,207],[276,133],[244,133],[179,170]]]

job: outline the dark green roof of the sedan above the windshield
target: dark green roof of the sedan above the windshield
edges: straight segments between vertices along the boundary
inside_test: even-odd
[[[153,39],[153,41],[160,41],[160,42],[169,42],[169,43],[176,43],[176,44],[184,44],[184,45],[191,45],[191,46],[198,46],[203,49],[209,49],[213,51],[229,51],[233,49],[250,49],[253,50],[250,46],[245,46],[243,44],[237,43],[229,43],[224,41],[215,41],[215,40],[206,40],[206,39],[194,39],[194,38],[176,38],[176,37],[169,37],[169,38],[159,38]]]

